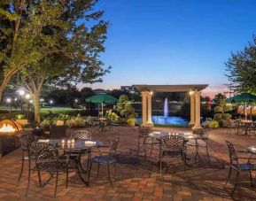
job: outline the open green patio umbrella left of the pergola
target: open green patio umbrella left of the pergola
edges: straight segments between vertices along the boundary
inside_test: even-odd
[[[118,99],[107,94],[98,94],[92,97],[85,98],[85,101],[92,104],[101,104],[102,118],[103,118],[103,105],[115,104]]]

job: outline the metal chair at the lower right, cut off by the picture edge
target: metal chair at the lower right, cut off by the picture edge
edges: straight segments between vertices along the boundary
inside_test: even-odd
[[[231,192],[231,195],[233,195],[233,193],[237,189],[238,177],[239,177],[239,174],[241,172],[244,172],[244,171],[249,172],[251,186],[253,186],[253,183],[252,183],[252,171],[256,170],[256,164],[250,163],[250,159],[252,159],[252,158],[249,158],[249,157],[248,158],[237,157],[237,151],[236,151],[234,145],[232,143],[230,143],[229,141],[226,141],[226,143],[227,143],[227,146],[228,146],[228,149],[229,149],[229,176],[227,178],[227,182],[225,183],[225,186],[229,182],[229,178],[230,178],[232,170],[237,172],[236,183],[235,183],[234,189]],[[241,159],[246,159],[247,162],[246,163],[240,163]]]

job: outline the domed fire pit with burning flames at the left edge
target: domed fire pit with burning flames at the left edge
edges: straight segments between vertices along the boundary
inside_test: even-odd
[[[19,148],[19,134],[22,130],[14,120],[0,121],[0,157]]]

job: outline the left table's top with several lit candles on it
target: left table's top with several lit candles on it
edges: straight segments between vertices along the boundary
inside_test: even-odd
[[[63,140],[65,140],[65,142]],[[54,144],[58,147],[58,149],[63,150],[86,150],[89,148],[103,145],[102,142],[88,140],[77,140],[74,143],[72,143],[72,141],[69,139],[46,139],[39,140],[38,142]]]

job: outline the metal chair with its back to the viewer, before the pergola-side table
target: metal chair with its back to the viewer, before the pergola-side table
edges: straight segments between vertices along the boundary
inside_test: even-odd
[[[164,157],[175,158],[180,156],[183,162],[183,168],[186,169],[186,147],[182,136],[169,135],[161,138],[161,149],[159,154],[160,174],[162,173],[162,159]]]

